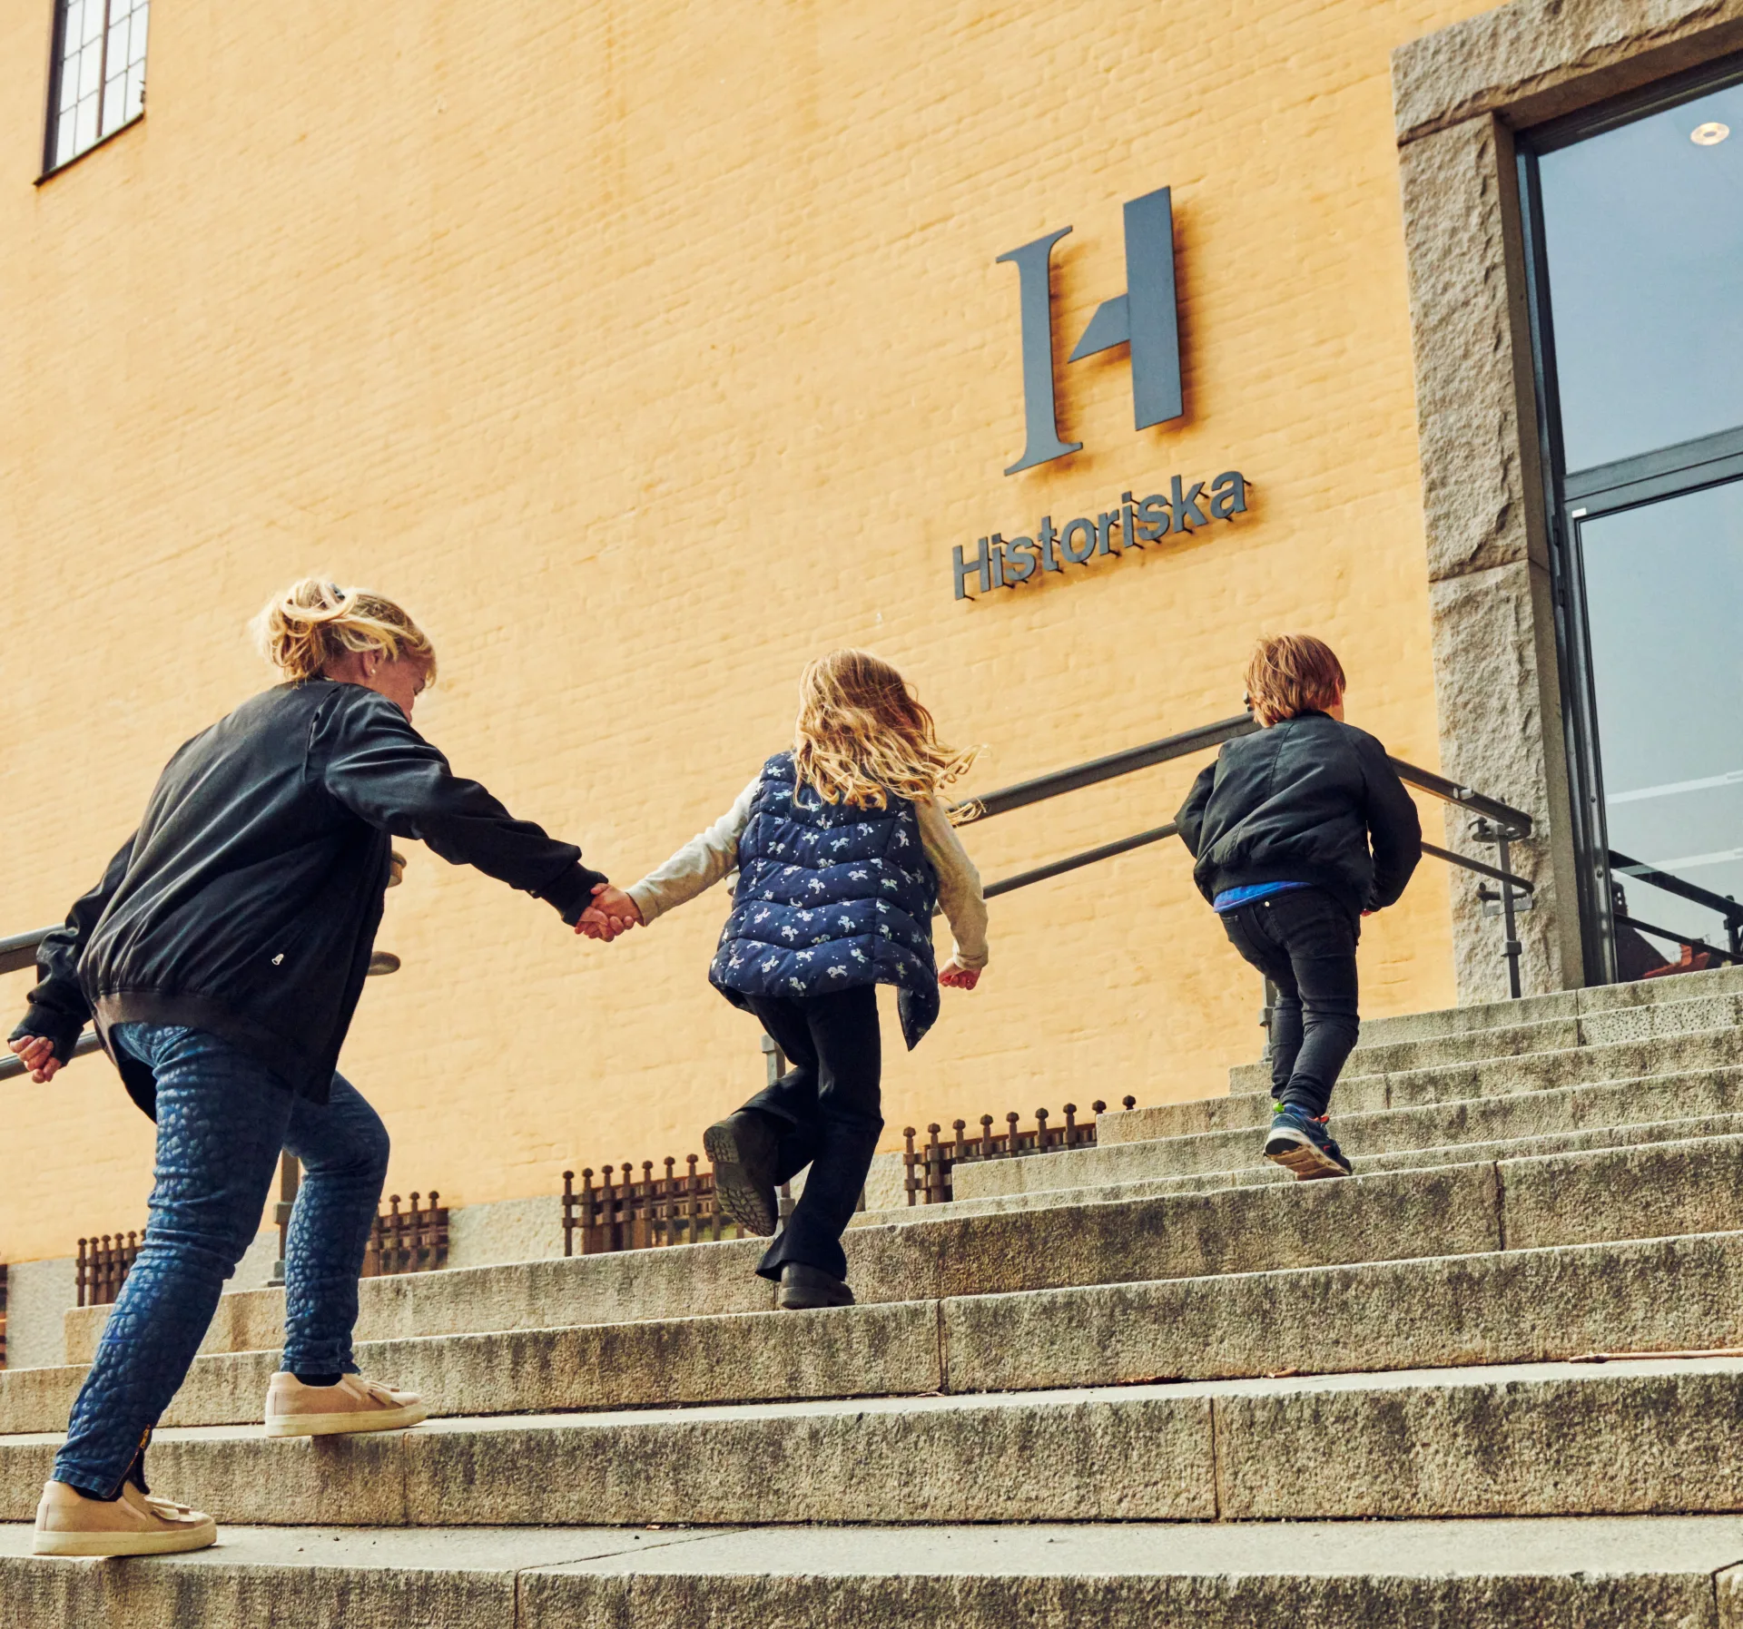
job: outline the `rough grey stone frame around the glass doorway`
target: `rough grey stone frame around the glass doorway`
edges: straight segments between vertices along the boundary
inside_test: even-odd
[[[1393,52],[1441,770],[1536,822],[1529,995],[1583,958],[1513,132],[1736,51],[1743,0],[1513,0]],[[1501,925],[1462,878],[1452,920],[1459,1002],[1501,1000]]]

